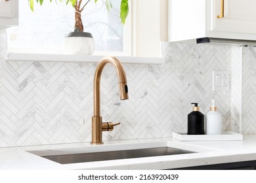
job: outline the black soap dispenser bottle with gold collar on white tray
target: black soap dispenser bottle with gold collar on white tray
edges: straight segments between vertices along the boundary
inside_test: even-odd
[[[204,135],[204,115],[200,112],[198,103],[194,105],[193,111],[188,114],[188,135]]]

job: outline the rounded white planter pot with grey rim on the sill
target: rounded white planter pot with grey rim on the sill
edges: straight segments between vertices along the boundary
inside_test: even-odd
[[[64,54],[91,55],[95,50],[95,41],[91,33],[71,32],[63,41]]]

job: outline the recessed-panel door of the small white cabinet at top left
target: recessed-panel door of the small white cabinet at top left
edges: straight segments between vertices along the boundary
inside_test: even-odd
[[[0,17],[12,18],[14,16],[14,0],[0,0]]]

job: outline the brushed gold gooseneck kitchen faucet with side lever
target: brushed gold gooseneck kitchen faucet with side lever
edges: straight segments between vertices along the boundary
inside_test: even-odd
[[[112,131],[115,125],[112,122],[102,123],[102,116],[100,116],[100,78],[104,66],[106,63],[112,63],[116,69],[118,82],[119,82],[119,93],[120,99],[128,99],[128,87],[126,83],[126,75],[121,62],[114,57],[106,57],[100,60],[95,71],[95,80],[93,84],[93,112],[92,117],[92,141],[91,144],[103,144],[102,142],[102,131]]]

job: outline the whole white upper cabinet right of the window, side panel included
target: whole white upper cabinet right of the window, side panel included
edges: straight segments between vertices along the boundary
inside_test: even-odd
[[[169,41],[256,40],[255,0],[169,0]]]

